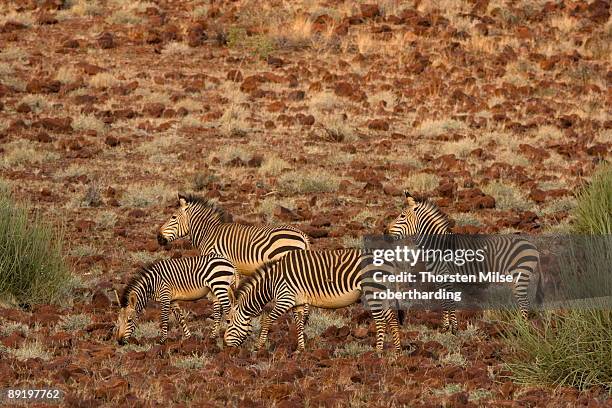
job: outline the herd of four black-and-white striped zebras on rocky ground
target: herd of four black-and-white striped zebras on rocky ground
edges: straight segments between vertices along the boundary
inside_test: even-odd
[[[436,242],[428,237],[450,233],[446,216],[433,203],[417,201],[408,192],[405,195],[406,208],[387,232],[396,237],[414,236],[418,247],[435,248]],[[401,351],[399,325],[403,311],[375,296],[387,287],[372,278],[374,273],[393,274],[394,264],[383,262],[376,266],[371,262],[372,254],[359,249],[312,250],[308,236],[292,226],[233,223],[221,209],[198,196],[179,194],[178,198],[179,207],[160,227],[158,242],[163,245],[189,236],[201,255],[160,260],[138,271],[121,298],[118,297],[120,312],[115,337],[120,344],[132,335],[136,320],[149,300],[161,305],[162,342],[167,337],[170,310],[184,336],[189,337],[191,333],[177,301],[208,296],[213,301],[211,337],[219,335],[224,314],[228,323],[224,342],[228,346],[240,346],[252,332],[251,320],[262,315],[256,343],[256,348],[261,348],[265,346],[271,324],[291,311],[297,326],[297,350],[302,351],[310,307],[338,309],[356,303],[363,296],[376,324],[376,350],[383,350],[388,329],[395,351]],[[488,252],[488,265],[517,276],[513,280],[514,295],[526,317],[527,287],[539,263],[537,249],[528,241],[514,237],[486,239],[493,248]],[[427,268],[433,273],[449,272],[447,266],[440,264],[427,264]],[[240,275],[244,278],[237,285]],[[269,303],[273,308],[265,313],[264,306]],[[443,327],[455,332],[455,311],[450,304],[443,304],[443,308]]]

